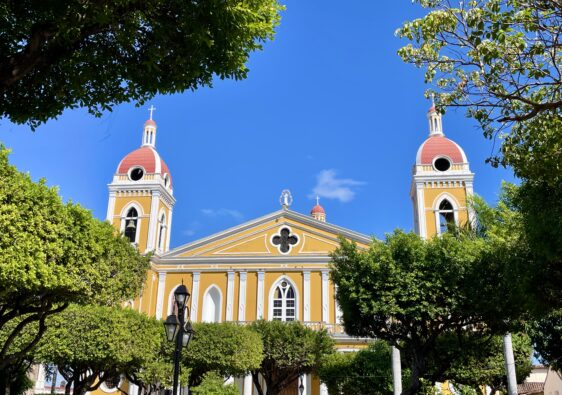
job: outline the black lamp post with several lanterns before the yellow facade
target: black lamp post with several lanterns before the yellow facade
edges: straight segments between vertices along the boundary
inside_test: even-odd
[[[186,307],[187,301],[189,300],[190,294],[185,285],[180,285],[174,291],[174,301],[178,307],[178,313],[170,314],[166,321],[164,322],[164,328],[166,329],[166,338],[168,341],[176,342],[176,348],[174,349],[174,392],[173,395],[178,395],[178,383],[180,374],[180,357],[182,347],[187,347],[191,336],[193,336],[193,328],[191,327],[191,322],[185,322],[185,312],[189,315],[189,308]]]

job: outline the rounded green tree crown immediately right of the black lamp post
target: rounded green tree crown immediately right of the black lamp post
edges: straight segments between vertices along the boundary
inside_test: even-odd
[[[258,333],[234,323],[193,324],[195,336],[184,352],[184,365],[191,370],[190,386],[207,372],[220,376],[244,376],[259,368],[263,345]]]

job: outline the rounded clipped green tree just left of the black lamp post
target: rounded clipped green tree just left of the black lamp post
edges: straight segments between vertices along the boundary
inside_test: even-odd
[[[72,305],[48,325],[35,360],[57,365],[67,395],[83,395],[142,369],[160,352],[164,338],[159,321],[121,307]]]

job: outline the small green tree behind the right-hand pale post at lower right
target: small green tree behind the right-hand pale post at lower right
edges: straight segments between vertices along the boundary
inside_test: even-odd
[[[517,382],[521,383],[531,373],[533,348],[525,333],[514,333],[512,341]],[[445,375],[455,386],[478,389],[486,385],[492,394],[508,393],[502,336],[493,336],[478,349],[458,353]]]

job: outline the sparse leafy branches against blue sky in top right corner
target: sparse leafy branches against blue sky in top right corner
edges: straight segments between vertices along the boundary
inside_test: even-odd
[[[505,123],[560,114],[558,0],[417,2],[430,11],[397,30],[412,42],[398,54],[426,68],[440,106],[468,107],[488,137]]]

